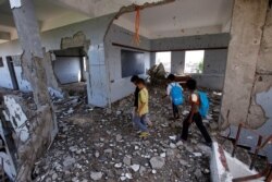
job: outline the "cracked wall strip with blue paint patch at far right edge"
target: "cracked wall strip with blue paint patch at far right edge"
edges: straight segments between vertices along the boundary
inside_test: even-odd
[[[272,125],[272,10],[268,8],[257,61],[247,122],[252,128]],[[268,128],[271,129],[271,128]]]

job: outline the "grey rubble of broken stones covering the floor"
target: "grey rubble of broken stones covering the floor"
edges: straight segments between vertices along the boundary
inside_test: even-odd
[[[195,124],[187,142],[175,142],[188,107],[181,107],[181,119],[173,121],[170,101],[161,99],[164,90],[149,92],[153,126],[147,139],[138,137],[132,123],[133,96],[112,109],[88,107],[82,96],[54,100],[60,131],[36,163],[35,181],[209,181],[211,149]],[[212,112],[206,124],[215,123],[220,98],[209,94]]]

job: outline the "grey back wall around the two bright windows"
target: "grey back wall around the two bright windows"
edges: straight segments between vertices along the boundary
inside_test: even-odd
[[[171,72],[183,75],[185,50],[207,49],[202,74],[191,74],[198,85],[211,89],[223,89],[230,34],[199,35],[151,40],[152,51],[172,50]],[[219,48],[219,49],[217,49]],[[154,62],[151,57],[150,62]]]

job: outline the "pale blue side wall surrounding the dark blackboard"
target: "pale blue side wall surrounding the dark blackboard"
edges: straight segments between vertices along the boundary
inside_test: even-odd
[[[134,33],[124,29],[115,24],[112,24],[108,35],[106,36],[106,61],[109,64],[109,80],[110,80],[110,97],[111,101],[116,101],[125,96],[132,94],[135,86],[131,83],[129,77],[122,77],[121,50],[132,50],[144,52],[145,70],[150,68],[150,52],[136,49],[127,49],[119,46],[113,46],[112,43],[132,46],[140,49],[150,50],[150,40],[146,37],[140,37],[140,44],[137,46],[133,44]],[[140,75],[145,77],[144,75]]]

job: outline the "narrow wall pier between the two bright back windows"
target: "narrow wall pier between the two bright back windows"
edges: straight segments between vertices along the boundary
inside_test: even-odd
[[[171,73],[183,74],[185,66],[185,51],[171,52]]]

